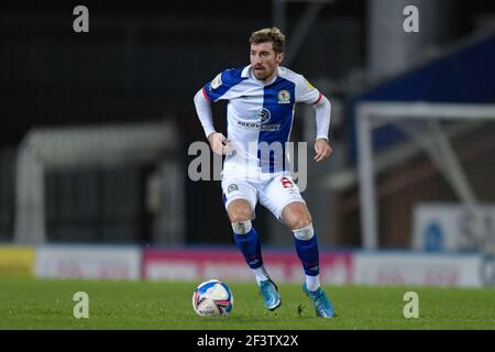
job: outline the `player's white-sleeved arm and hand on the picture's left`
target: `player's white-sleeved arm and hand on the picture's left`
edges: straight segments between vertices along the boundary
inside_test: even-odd
[[[198,90],[195,96],[196,113],[201,122],[205,135],[210,143],[210,147],[215,154],[223,155],[227,150],[227,138],[219,132],[215,131],[213,117],[211,112],[211,103],[205,88]]]

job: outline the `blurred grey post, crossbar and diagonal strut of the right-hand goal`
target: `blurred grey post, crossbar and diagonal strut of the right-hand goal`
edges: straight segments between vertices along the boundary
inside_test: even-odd
[[[470,145],[469,140],[475,140],[476,133],[482,131],[482,134],[486,134],[485,150],[493,147],[495,134],[490,134],[492,130],[485,128],[490,125],[488,122],[495,127],[495,105],[387,101],[359,103],[356,144],[362,246],[366,250],[381,246],[381,215],[376,189],[378,174],[404,165],[418,154],[427,157],[437,168],[436,172],[455,195],[457,202],[469,208],[479,206],[476,190],[459,157],[459,147],[453,144],[463,139]],[[374,133],[386,125],[399,131],[402,138],[388,147],[375,151]],[[493,160],[495,157],[492,156],[490,166],[495,166]],[[480,193],[480,187],[477,188]],[[493,200],[495,204],[495,199]]]

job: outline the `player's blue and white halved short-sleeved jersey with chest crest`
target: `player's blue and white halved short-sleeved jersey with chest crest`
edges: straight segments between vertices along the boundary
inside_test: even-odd
[[[318,103],[321,94],[301,75],[278,67],[270,82],[257,80],[251,66],[226,69],[202,92],[210,101],[227,100],[227,139],[232,153],[223,172],[249,169],[277,173],[288,169],[289,141],[296,102]]]

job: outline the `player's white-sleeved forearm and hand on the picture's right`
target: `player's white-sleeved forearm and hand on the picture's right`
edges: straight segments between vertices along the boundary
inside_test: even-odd
[[[321,95],[321,94],[320,94]],[[328,140],[330,128],[331,103],[324,96],[320,96],[319,101],[314,105],[317,122],[317,140],[315,142],[315,161],[324,161],[332,154],[332,147]]]

